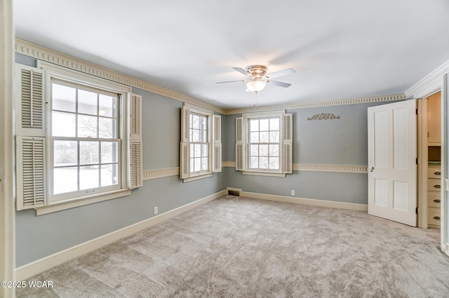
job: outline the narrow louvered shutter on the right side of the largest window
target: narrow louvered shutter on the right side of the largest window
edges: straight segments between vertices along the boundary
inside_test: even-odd
[[[142,187],[142,96],[131,94],[129,188]]]

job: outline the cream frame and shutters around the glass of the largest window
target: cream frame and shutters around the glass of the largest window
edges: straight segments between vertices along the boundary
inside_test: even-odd
[[[33,74],[40,74],[41,80],[37,83],[31,81],[32,85],[29,85],[30,81],[22,81],[22,74],[24,72],[32,74],[33,78]],[[53,163],[53,156],[50,154],[50,151],[52,150],[48,149],[51,144],[51,132],[49,130],[51,127],[51,114],[49,114],[51,113],[51,104],[49,104],[49,100],[51,100],[49,94],[51,90],[51,77],[119,95],[120,100],[118,108],[120,120],[118,121],[119,123],[117,123],[117,126],[119,127],[120,135],[117,135],[117,137],[120,137],[121,139],[121,156],[119,156],[119,163],[121,164],[121,185],[118,189],[105,189],[105,191],[97,194],[74,196],[58,201],[50,198],[49,188],[51,187],[51,167],[49,166],[49,163]],[[15,64],[15,90],[15,158],[17,164],[15,171],[17,185],[15,198],[17,210],[34,208],[36,210],[36,215],[44,215],[51,212],[79,207],[81,205],[129,196],[131,194],[131,189],[142,187],[142,124],[140,120],[142,96],[133,94],[130,86],[125,86],[121,83],[100,79],[91,74],[85,74],[66,67],[60,67],[58,65],[37,60],[36,67],[21,65],[20,63]],[[32,93],[29,93],[30,91]],[[26,104],[29,100],[27,98],[29,98],[30,94],[32,94],[33,97],[34,92],[39,92],[36,94],[39,96],[41,95],[39,98],[42,98],[42,100],[39,109],[37,109],[38,107],[35,106],[34,101],[32,101],[32,109],[36,109],[35,112],[39,112],[39,115],[42,117],[41,119],[38,119],[39,122],[36,125],[33,122],[32,126],[24,126],[23,121],[28,121],[29,116],[22,114],[22,109],[27,107]],[[28,124],[28,122],[25,124]],[[27,183],[27,187],[30,182],[32,182],[32,184],[35,183],[33,182],[35,180],[30,180],[30,178],[25,179],[23,176],[24,171],[30,168],[30,163],[22,157],[24,154],[27,154],[26,152],[23,153],[22,150],[25,145],[28,146],[29,144],[32,146],[34,146],[34,144],[43,145],[43,154],[39,154],[41,159],[38,161],[43,161],[43,167],[40,168],[43,175],[39,177],[38,187],[40,188],[32,192],[28,191],[25,194],[23,190],[25,183]],[[34,161],[32,161],[32,163],[34,163]],[[40,172],[36,175],[40,175],[39,173]]]

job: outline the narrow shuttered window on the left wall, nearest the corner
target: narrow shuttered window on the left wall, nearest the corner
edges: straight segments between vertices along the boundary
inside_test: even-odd
[[[185,182],[221,172],[221,117],[213,111],[182,107],[180,176]]]

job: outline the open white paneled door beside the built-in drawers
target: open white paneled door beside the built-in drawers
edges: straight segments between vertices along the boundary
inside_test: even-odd
[[[416,226],[416,100],[368,108],[368,214]]]

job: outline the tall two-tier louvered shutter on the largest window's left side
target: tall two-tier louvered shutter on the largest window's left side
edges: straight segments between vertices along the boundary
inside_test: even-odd
[[[16,208],[46,205],[44,73],[15,67]]]

